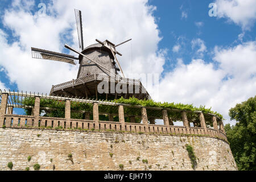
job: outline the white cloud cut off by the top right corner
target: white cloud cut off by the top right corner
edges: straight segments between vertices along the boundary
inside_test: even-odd
[[[250,30],[256,19],[255,0],[216,0],[217,16],[228,18],[243,30]]]

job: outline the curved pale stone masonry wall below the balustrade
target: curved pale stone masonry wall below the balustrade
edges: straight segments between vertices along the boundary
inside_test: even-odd
[[[193,170],[185,144],[194,149],[196,170],[237,170],[229,144],[217,138],[10,128],[0,129],[0,170],[10,170],[9,162],[13,170],[36,163],[40,170]]]

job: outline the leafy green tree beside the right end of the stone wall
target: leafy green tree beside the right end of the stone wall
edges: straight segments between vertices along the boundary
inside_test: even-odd
[[[241,171],[256,170],[256,96],[229,110],[235,126],[225,126],[237,167]]]

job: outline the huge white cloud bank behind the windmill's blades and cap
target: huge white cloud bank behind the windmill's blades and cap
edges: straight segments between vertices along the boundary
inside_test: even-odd
[[[61,35],[69,34],[73,40],[69,43],[78,48],[74,9],[82,11],[85,46],[96,43],[95,39],[120,43],[132,38],[132,42],[118,47],[123,54],[118,57],[125,73],[161,73],[164,54],[158,52],[158,26],[152,15],[156,9],[146,0],[132,1],[53,1],[47,5],[46,16],[31,14],[31,7],[37,7],[29,1],[14,1],[3,15],[3,23],[18,38],[13,44],[7,44],[9,35],[1,30],[0,65],[5,68],[11,82],[18,84],[19,90],[47,92],[52,85],[76,78],[78,67],[57,61],[31,58],[30,47],[61,52],[64,43]],[[86,6],[85,6],[86,5]],[[39,9],[38,9],[39,10]],[[132,51],[131,51],[132,50]]]

